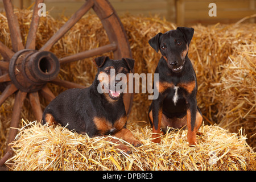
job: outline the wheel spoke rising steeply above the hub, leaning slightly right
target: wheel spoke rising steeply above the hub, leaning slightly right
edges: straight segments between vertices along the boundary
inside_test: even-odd
[[[36,31],[38,30],[38,23],[40,19],[40,16],[38,16],[38,10],[39,10],[38,4],[42,2],[44,2],[44,0],[35,1],[32,20],[30,23],[30,30],[28,31],[28,36],[27,36],[27,43],[26,43],[27,49],[35,49]]]

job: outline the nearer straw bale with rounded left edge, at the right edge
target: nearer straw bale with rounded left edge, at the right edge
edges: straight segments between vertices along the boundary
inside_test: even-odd
[[[232,132],[243,127],[247,141],[256,147],[256,42],[238,46],[229,61],[222,66],[220,82],[216,83],[219,124]]]

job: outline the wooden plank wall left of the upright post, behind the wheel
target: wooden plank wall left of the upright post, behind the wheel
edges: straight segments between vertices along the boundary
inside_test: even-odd
[[[12,0],[15,7],[29,7],[33,0]],[[44,0],[47,11],[54,17],[61,15],[71,16],[85,0]],[[165,17],[171,22],[175,22],[175,0],[109,0],[119,16],[129,13],[131,15],[154,15]],[[3,10],[2,0],[0,0],[0,11]]]

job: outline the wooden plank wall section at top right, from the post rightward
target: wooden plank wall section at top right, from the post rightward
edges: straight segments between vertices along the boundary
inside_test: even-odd
[[[216,3],[217,16],[210,17],[209,3]],[[177,0],[177,25],[235,23],[245,16],[256,14],[255,0]],[[256,18],[247,22],[255,23]]]

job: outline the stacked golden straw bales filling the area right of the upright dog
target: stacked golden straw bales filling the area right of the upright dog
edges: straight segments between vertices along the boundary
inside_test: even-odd
[[[244,127],[247,141],[255,147],[256,24],[194,28],[189,57],[195,65],[205,121],[232,132]]]

